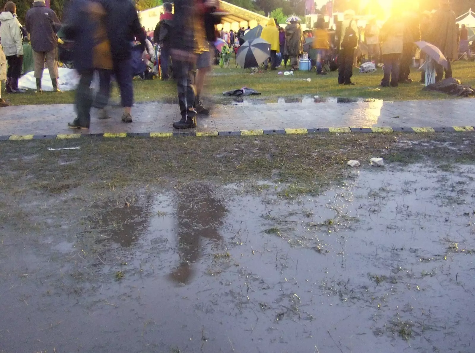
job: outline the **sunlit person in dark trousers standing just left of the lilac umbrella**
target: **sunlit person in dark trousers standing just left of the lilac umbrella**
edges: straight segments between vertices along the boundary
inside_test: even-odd
[[[399,70],[399,83],[410,84],[411,63],[414,54],[415,44],[420,40],[419,19],[415,13],[409,12],[404,15],[404,38],[402,47],[402,58]]]

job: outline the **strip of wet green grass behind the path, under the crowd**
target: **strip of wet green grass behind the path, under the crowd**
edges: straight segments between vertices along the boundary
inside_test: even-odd
[[[475,63],[460,61],[452,66],[454,77],[464,84],[475,85]],[[277,97],[301,97],[302,95],[319,95],[321,97],[362,97],[384,100],[421,100],[421,99],[447,99],[454,98],[443,93],[430,93],[422,91],[418,84],[420,73],[413,70],[411,73],[413,84],[400,85],[397,88],[381,88],[382,72],[374,74],[359,74],[354,69],[353,82],[356,86],[342,86],[337,84],[337,73],[317,76],[315,72],[295,72],[294,76],[278,75],[275,71],[268,71],[251,75],[249,70],[235,68],[215,67],[212,77],[208,78],[206,93],[214,100],[222,100],[222,93],[243,86],[251,87],[262,93],[258,99],[272,100]],[[311,78],[311,82],[304,80]],[[4,87],[2,87],[4,89]],[[134,81],[134,95],[136,102],[175,102],[176,84],[173,82]],[[43,93],[35,94],[29,90],[24,94],[3,93],[5,99],[15,105],[21,104],[58,104],[74,102],[74,92],[61,94]],[[112,98],[118,101],[119,94],[114,84]]]

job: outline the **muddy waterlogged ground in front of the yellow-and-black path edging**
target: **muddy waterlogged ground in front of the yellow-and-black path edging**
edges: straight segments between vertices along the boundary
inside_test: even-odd
[[[0,352],[474,352],[474,142],[4,141]]]

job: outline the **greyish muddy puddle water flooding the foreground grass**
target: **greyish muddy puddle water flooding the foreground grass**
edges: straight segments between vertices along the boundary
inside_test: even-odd
[[[474,352],[475,175],[444,169],[30,202],[37,226],[3,227],[1,352]]]

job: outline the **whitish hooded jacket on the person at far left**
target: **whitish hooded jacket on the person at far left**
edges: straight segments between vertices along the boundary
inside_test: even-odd
[[[2,12],[0,22],[0,42],[5,55],[23,55],[23,34],[17,17],[11,12]]]

